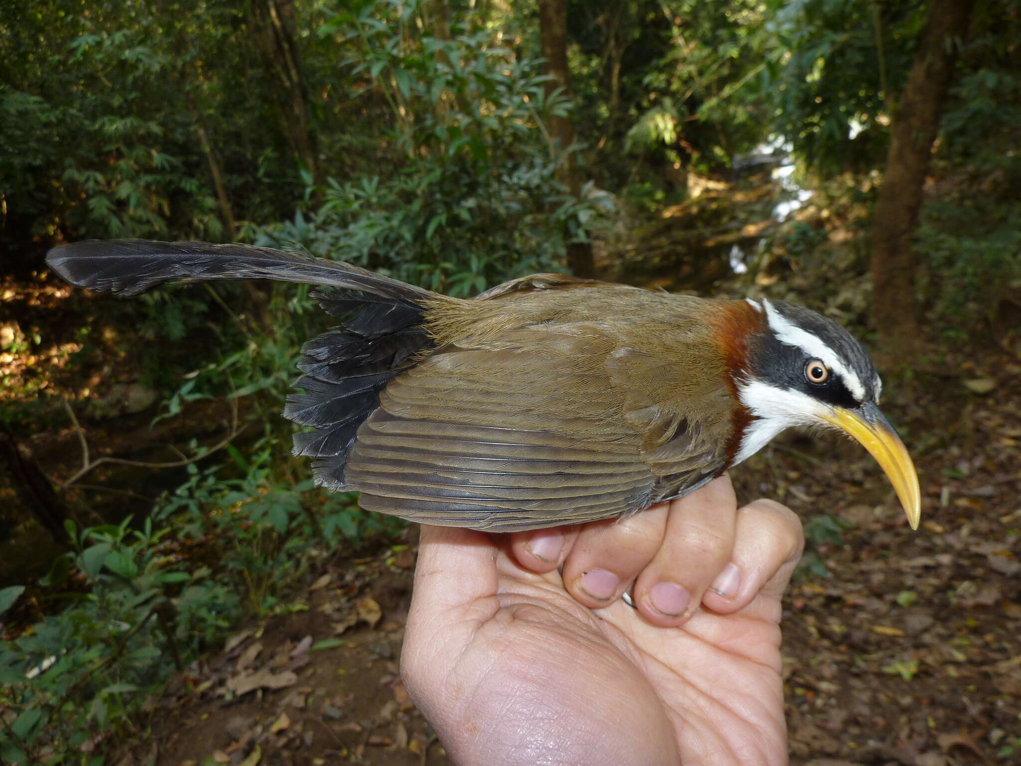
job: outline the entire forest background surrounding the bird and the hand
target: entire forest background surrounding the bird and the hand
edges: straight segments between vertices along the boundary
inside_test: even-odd
[[[834,317],[927,521],[832,440],[735,472],[806,521],[792,757],[1021,758],[1019,40],[1016,0],[6,0],[0,761],[444,758],[394,672],[414,530],[288,457],[307,290],[44,268],[113,237]],[[271,666],[294,681],[239,691]]]

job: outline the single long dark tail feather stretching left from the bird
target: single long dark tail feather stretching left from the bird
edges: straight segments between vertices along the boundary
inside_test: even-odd
[[[411,303],[434,295],[350,264],[251,245],[90,240],[54,247],[46,262],[72,285],[121,295],[138,295],[171,280],[213,279],[328,285]]]

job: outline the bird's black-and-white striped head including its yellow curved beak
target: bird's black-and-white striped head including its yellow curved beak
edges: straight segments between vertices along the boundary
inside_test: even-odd
[[[791,426],[835,427],[876,459],[917,529],[921,491],[915,465],[879,411],[882,382],[861,343],[833,320],[804,306],[747,302],[760,316],[734,375],[737,396],[750,415],[734,463]]]

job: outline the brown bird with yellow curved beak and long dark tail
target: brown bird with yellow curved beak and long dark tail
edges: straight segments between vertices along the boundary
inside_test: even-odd
[[[89,240],[48,266],[137,295],[167,281],[314,285],[336,327],[301,348],[284,417],[315,483],[363,509],[519,532],[639,513],[790,427],[835,428],[886,473],[913,529],[911,457],[882,382],[838,323],[770,298],[716,299],[535,274],[473,299],[246,244]]]

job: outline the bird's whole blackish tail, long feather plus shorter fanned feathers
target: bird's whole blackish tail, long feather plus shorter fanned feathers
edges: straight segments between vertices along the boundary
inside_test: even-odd
[[[313,293],[343,326],[309,340],[284,417],[313,431],[294,435],[294,453],[313,459],[315,481],[346,486],[347,454],[379,392],[432,345],[422,327],[423,301],[436,293],[349,264],[250,245],[76,242],[50,250],[46,262],[65,280],[98,292],[137,295],[171,280],[275,279],[323,285]]]

